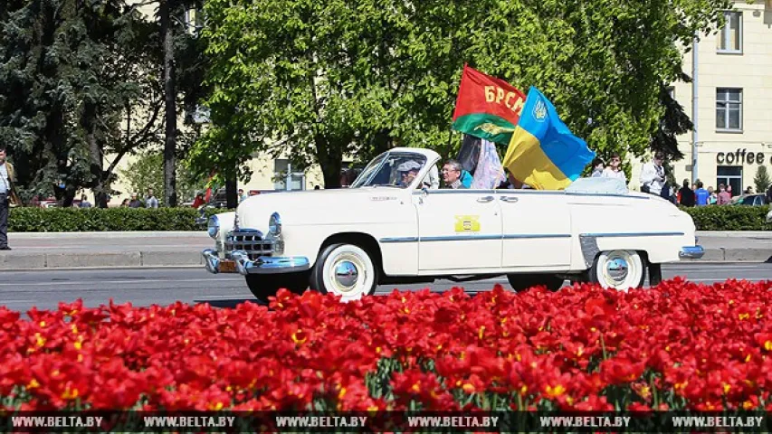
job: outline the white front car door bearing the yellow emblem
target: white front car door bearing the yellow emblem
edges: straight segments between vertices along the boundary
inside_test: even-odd
[[[500,203],[492,191],[424,190],[413,197],[419,272],[500,268]]]

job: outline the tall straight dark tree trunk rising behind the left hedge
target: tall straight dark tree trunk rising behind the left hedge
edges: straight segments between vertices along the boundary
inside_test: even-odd
[[[167,206],[176,206],[176,83],[174,71],[174,31],[171,25],[171,11],[173,10],[174,0],[161,1],[161,39],[164,43],[164,97],[166,99],[164,202]]]

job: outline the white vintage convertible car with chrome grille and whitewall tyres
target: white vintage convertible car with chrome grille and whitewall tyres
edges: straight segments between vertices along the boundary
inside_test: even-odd
[[[351,300],[379,284],[502,275],[515,290],[557,290],[566,278],[626,290],[642,286],[647,271],[658,283],[662,263],[703,255],[687,213],[621,182],[441,190],[427,187],[439,159],[395,148],[350,188],[250,197],[209,219],[206,269],[241,273],[261,300],[279,288]]]

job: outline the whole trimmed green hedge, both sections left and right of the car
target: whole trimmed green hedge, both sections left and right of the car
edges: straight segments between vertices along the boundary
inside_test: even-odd
[[[711,205],[681,208],[691,214],[698,231],[772,231],[768,206]],[[228,212],[207,210],[207,215]],[[8,231],[201,231],[193,208],[12,208]]]

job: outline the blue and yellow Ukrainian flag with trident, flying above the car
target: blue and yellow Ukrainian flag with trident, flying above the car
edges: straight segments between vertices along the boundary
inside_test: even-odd
[[[595,156],[584,140],[571,134],[552,103],[531,86],[501,164],[515,179],[537,190],[562,190]]]

